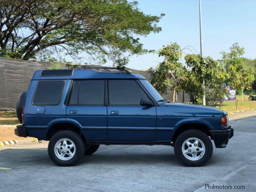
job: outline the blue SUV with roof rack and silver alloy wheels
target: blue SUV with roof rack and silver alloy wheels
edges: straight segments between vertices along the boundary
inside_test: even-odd
[[[186,166],[201,166],[233,136],[227,113],[169,103],[128,68],[39,70],[17,100],[15,134],[49,140],[60,166],[104,145],[169,145]]]

